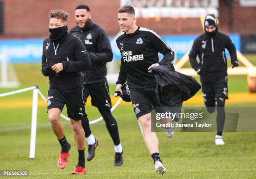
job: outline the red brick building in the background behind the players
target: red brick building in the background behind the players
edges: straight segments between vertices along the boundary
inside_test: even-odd
[[[220,31],[243,35],[255,34],[256,3],[251,7],[243,7],[241,1],[244,0],[218,1]],[[120,0],[0,0],[0,38],[48,36],[48,13],[52,9],[63,9],[70,13],[67,22],[70,29],[76,25],[74,8],[79,4],[87,4],[90,7],[92,20],[102,26],[109,36],[118,33],[117,10],[120,7]],[[161,35],[202,33],[199,18],[138,18],[137,24],[154,29]]]

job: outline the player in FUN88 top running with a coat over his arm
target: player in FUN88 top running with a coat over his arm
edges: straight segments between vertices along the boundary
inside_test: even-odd
[[[131,92],[131,101],[136,117],[143,129],[143,138],[155,163],[156,172],[164,174],[166,169],[159,155],[158,139],[151,132],[152,107],[160,107],[155,89],[154,74],[148,71],[160,64],[170,64],[174,60],[174,52],[154,31],[136,26],[135,10],[125,5],[118,9],[118,23],[123,35],[116,40],[122,55],[116,90],[122,95],[122,84],[127,81]],[[158,53],[164,55],[159,62]]]

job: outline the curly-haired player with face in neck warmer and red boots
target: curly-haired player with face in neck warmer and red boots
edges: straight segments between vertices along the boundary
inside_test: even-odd
[[[91,62],[80,39],[68,33],[68,17],[69,14],[63,10],[51,10],[49,13],[50,36],[43,43],[42,73],[49,77],[48,117],[61,145],[57,166],[60,169],[66,167],[71,148],[60,121],[61,111],[66,105],[78,150],[78,164],[72,174],[85,174],[84,130],[81,120],[86,117],[86,113],[81,71],[90,69]]]

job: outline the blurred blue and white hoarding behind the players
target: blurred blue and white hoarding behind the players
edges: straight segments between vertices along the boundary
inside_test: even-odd
[[[198,35],[184,35],[184,36],[161,36],[166,43],[175,52],[175,57],[180,59],[192,47],[193,41]],[[241,38],[238,34],[230,34],[230,38],[236,46],[238,51],[241,51]],[[110,41],[113,37],[110,37]],[[0,40],[0,54],[5,54],[13,63],[40,63],[42,57],[42,43],[43,39],[12,39]],[[119,61],[121,58],[120,51],[115,42],[112,49],[114,59]],[[229,57],[229,54],[227,53]],[[162,55],[159,54],[160,59]]]

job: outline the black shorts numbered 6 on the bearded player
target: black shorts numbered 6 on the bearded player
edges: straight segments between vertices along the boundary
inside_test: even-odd
[[[107,81],[84,84],[83,97],[85,104],[89,95],[92,98],[92,105],[97,107],[99,110],[111,109],[111,100]]]

